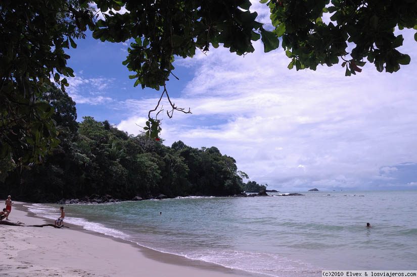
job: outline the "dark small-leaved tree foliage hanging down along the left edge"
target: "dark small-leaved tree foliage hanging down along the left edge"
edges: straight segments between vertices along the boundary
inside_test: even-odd
[[[51,80],[68,85],[65,77],[74,75],[65,49],[93,27],[92,17],[76,0],[0,3],[0,158],[12,153],[18,165],[40,162],[59,144],[54,109],[38,98]]]

